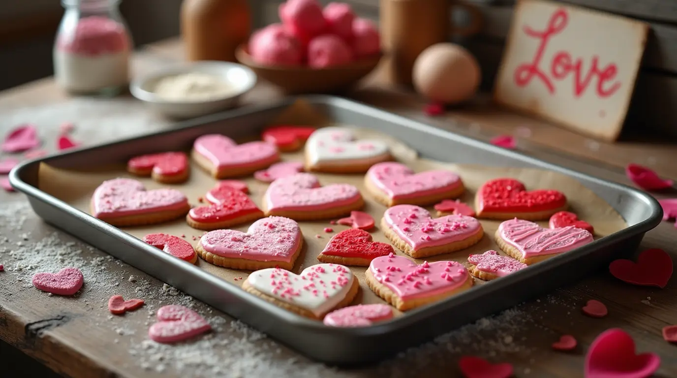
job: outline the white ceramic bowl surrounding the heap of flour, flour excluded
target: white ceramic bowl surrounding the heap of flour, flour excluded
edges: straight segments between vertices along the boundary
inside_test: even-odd
[[[236,91],[227,96],[206,101],[165,100],[154,93],[160,79],[188,72],[201,72],[220,77],[223,81],[233,85]],[[240,97],[252,89],[256,81],[257,75],[254,71],[242,64],[203,61],[162,68],[149,75],[137,77],[131,81],[129,91],[131,91],[132,96],[150,104],[156,111],[168,117],[186,119],[236,106]]]

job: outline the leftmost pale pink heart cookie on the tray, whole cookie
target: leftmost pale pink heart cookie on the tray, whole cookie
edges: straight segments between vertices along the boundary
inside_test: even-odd
[[[113,226],[156,224],[188,213],[188,198],[175,189],[146,190],[137,180],[104,181],[91,198],[92,214]]]

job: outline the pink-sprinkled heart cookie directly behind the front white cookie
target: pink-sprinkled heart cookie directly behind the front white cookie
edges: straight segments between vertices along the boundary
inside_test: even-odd
[[[279,266],[291,269],[303,247],[299,224],[285,217],[257,220],[247,232],[214,230],[202,235],[196,247],[205,261],[234,269],[257,270]]]

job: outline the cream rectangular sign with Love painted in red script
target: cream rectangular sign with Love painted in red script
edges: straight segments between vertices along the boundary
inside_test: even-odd
[[[628,112],[648,24],[561,3],[521,0],[494,100],[615,140]]]

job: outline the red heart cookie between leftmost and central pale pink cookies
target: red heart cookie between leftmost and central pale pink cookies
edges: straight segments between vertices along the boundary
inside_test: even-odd
[[[233,186],[219,184],[205,197],[211,205],[193,207],[185,216],[192,228],[217,230],[263,217],[263,211],[254,201]]]

